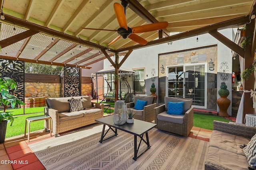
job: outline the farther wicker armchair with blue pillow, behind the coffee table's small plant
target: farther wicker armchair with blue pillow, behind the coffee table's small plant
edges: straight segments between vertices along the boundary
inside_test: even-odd
[[[141,109],[136,109],[136,103],[144,101],[146,103]],[[145,102],[146,101],[146,102]],[[154,121],[154,107],[156,107],[156,97],[155,96],[134,96],[134,102],[127,103],[127,109],[131,109],[134,115],[134,119],[139,119],[142,121],[152,122]],[[139,104],[139,102],[138,102]],[[137,105],[138,105],[137,104]]]

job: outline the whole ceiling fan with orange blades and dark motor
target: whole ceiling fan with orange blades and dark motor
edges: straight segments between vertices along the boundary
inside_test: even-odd
[[[121,4],[114,3],[114,11],[116,14],[116,19],[120,26],[120,28],[118,28],[117,30],[94,29],[94,28],[83,28],[83,29],[92,29],[92,30],[98,30],[98,31],[116,31],[119,35],[115,39],[113,39],[108,45],[113,44],[121,37],[123,37],[124,39],[126,39],[128,37],[137,43],[145,45],[146,43],[148,43],[148,41],[146,39],[140,37],[139,35],[136,35],[135,33],[156,31],[159,29],[164,29],[168,26],[168,22],[164,21],[164,22],[150,23],[150,24],[130,28],[127,26],[127,21],[126,21],[126,17],[125,17],[125,10],[126,10],[126,7],[129,5],[129,2],[122,1]]]

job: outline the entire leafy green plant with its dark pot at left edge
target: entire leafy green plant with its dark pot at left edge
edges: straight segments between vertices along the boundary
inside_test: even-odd
[[[5,134],[6,134],[6,127],[7,122],[12,123],[14,121],[14,118],[12,117],[12,114],[6,113],[6,108],[9,104],[11,104],[12,108],[17,108],[16,104],[20,106],[21,104],[24,104],[21,102],[16,96],[12,95],[11,93],[15,92],[17,90],[17,83],[9,77],[3,77],[0,78],[0,103],[1,106],[4,106],[4,112],[0,114],[0,143],[4,143]]]

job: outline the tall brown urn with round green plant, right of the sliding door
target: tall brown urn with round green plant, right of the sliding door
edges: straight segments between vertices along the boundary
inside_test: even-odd
[[[227,89],[227,85],[225,82],[221,83],[218,94],[220,95],[220,98],[217,99],[217,104],[220,108],[218,115],[222,117],[229,117],[230,115],[228,115],[227,112],[228,107],[230,105],[230,100],[227,98],[229,95],[229,90]]]

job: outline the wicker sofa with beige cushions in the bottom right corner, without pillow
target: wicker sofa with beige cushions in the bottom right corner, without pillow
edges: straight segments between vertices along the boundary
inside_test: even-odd
[[[205,170],[248,170],[248,160],[240,145],[247,145],[255,134],[255,127],[214,121]]]

